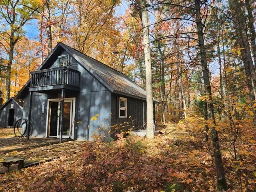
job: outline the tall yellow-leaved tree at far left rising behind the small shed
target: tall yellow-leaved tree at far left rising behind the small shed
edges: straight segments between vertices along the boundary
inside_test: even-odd
[[[29,7],[34,7],[33,9]],[[22,5],[20,0],[1,0],[0,1],[0,16],[2,20],[6,22],[8,28],[4,29],[8,33],[8,39],[0,40],[0,43],[4,45],[8,54],[8,62],[6,67],[6,92],[5,99],[10,97],[10,79],[11,68],[13,62],[14,47],[18,40],[23,36],[24,31],[22,27],[34,18],[36,10],[39,9],[37,2],[28,1],[26,6]]]

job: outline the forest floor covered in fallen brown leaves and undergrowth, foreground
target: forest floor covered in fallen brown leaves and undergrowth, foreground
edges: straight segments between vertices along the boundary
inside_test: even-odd
[[[76,154],[66,148],[50,162],[0,175],[0,191],[215,192],[211,144],[198,126],[196,120],[169,123],[154,139],[84,142]],[[255,149],[248,156],[256,165]],[[232,164],[237,162],[225,148],[222,157],[229,191],[256,191],[255,168],[247,167],[238,177]]]

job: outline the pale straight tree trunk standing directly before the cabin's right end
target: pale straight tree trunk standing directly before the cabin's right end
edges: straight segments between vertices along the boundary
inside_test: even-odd
[[[143,6],[146,3],[143,4]],[[146,137],[154,138],[153,92],[152,92],[152,68],[150,55],[150,40],[148,30],[148,11],[144,7],[142,12],[143,44],[146,68],[146,92],[147,92],[147,130]]]

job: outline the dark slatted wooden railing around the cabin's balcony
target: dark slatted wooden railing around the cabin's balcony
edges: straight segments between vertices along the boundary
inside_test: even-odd
[[[58,67],[31,72],[30,87],[70,85],[80,86],[80,72],[67,67]]]

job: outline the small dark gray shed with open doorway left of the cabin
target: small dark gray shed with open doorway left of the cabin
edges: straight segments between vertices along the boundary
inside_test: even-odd
[[[22,118],[23,100],[11,97],[0,107],[0,127],[12,128]]]

